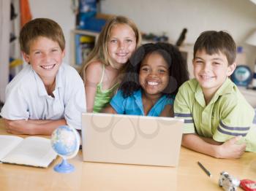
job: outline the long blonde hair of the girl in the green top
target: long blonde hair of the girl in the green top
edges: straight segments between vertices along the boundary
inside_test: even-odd
[[[127,17],[124,16],[115,16],[110,17],[108,22],[102,28],[102,31],[99,34],[99,38],[97,39],[97,43],[95,44],[94,49],[88,55],[86,61],[83,62],[83,66],[80,69],[80,76],[84,79],[86,73],[86,67],[89,66],[90,63],[94,61],[100,61],[102,64],[106,66],[113,66],[113,63],[110,59],[110,55],[108,54],[108,41],[110,39],[110,32],[113,26],[118,24],[125,24],[132,28],[132,31],[135,33],[136,37],[136,47],[140,45],[141,35],[135,23]]]

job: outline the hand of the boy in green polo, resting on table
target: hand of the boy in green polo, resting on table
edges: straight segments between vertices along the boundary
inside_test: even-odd
[[[233,137],[219,146],[220,158],[239,158],[244,154],[246,144],[238,144],[241,136]]]

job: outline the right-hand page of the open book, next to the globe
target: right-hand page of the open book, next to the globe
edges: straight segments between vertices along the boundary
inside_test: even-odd
[[[2,162],[46,168],[56,156],[56,152],[50,146],[50,139],[30,136],[12,149]]]

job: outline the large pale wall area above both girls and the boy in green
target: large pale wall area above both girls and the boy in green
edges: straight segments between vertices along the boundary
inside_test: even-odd
[[[202,31],[225,30],[244,46],[250,65],[256,58],[256,47],[244,44],[256,28],[256,4],[249,0],[104,0],[101,10],[132,18],[141,31],[166,32],[170,42],[176,42],[183,28],[190,44]]]

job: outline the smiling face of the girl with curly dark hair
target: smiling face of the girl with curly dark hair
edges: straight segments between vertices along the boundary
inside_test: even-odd
[[[162,96],[169,82],[169,66],[158,52],[152,52],[143,59],[139,82],[147,95]]]

